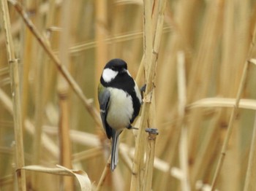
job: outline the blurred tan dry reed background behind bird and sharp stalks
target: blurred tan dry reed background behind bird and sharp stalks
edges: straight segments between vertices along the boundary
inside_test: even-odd
[[[29,19],[96,107],[97,83],[108,60],[123,58],[136,77],[143,58],[142,0],[22,3]],[[110,154],[110,142],[9,5],[20,72],[25,165],[61,164],[80,169],[95,188]],[[256,189],[256,66],[246,62],[256,56],[251,46],[255,22],[253,0],[167,1],[155,81],[153,117],[159,136],[153,190],[207,190],[211,186],[245,64],[243,99],[233,117],[216,187]],[[15,190],[14,111],[2,16],[0,50],[0,190]],[[183,57],[181,71],[177,66]],[[138,82],[143,85],[144,77]],[[118,168],[107,175],[102,190],[129,190],[134,149],[135,136],[125,130]],[[36,190],[79,190],[73,179],[29,171],[26,184]]]

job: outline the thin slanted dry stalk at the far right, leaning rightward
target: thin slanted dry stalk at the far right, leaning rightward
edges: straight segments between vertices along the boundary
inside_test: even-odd
[[[232,130],[233,130],[233,122],[236,119],[236,114],[238,113],[238,106],[239,106],[239,103],[240,103],[240,100],[241,100],[241,94],[243,93],[244,86],[246,84],[246,77],[247,77],[247,72],[248,72],[248,67],[249,67],[249,58],[252,57],[252,51],[253,51],[254,45],[255,45],[255,34],[256,34],[256,27],[254,28],[254,31],[253,31],[252,41],[251,41],[251,45],[250,45],[249,52],[248,52],[248,55],[247,55],[247,60],[244,63],[244,69],[243,69],[243,73],[242,73],[242,76],[241,76],[241,81],[239,83],[238,92],[236,94],[236,103],[234,104],[233,109],[232,109],[232,113],[230,115],[230,120],[228,122],[225,141],[222,145],[221,154],[220,154],[220,157],[219,157],[219,160],[218,160],[216,171],[214,173],[214,179],[211,183],[211,186],[212,186],[211,190],[214,190],[215,187],[216,187],[217,179],[219,177],[219,172],[222,168],[222,164],[223,164],[223,161],[225,159],[225,154],[226,154],[226,151],[227,151],[227,144],[228,144],[228,141],[230,140],[230,136],[231,136],[231,133],[232,133]]]

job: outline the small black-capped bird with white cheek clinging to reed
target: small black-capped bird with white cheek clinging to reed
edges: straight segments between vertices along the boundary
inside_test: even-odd
[[[118,146],[121,132],[132,129],[132,122],[140,112],[142,97],[127,63],[114,58],[106,63],[98,85],[98,101],[102,125],[108,139],[112,139],[110,169],[118,163]]]

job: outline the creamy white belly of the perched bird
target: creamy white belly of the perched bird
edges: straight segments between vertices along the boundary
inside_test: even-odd
[[[132,97],[131,95],[127,95],[123,90],[111,87],[109,87],[109,90],[108,125],[116,130],[127,128],[133,114]]]

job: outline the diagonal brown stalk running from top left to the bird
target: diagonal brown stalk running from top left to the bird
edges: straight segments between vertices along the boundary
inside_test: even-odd
[[[45,38],[39,34],[39,31],[34,26],[34,24],[29,20],[29,17],[26,15],[26,12],[24,11],[23,7],[18,4],[17,1],[11,1],[17,12],[20,14],[20,16],[23,18],[23,21],[26,23],[26,26],[29,28],[32,34],[36,37],[39,44],[41,44],[42,48],[45,50],[45,52],[48,54],[48,56],[52,59],[53,63],[56,64],[57,69],[61,72],[64,79],[67,80],[70,87],[72,87],[72,90],[74,90],[75,94],[78,95],[78,98],[83,102],[83,105],[88,110],[89,114],[91,114],[91,117],[93,117],[94,121],[97,123],[97,125],[101,126],[99,112],[97,112],[97,109],[92,106],[91,101],[89,101],[88,98],[83,94],[83,91],[75,82],[75,79],[69,74],[69,71],[67,71],[67,68],[61,64],[59,61],[59,58],[53,53],[53,50],[49,47],[47,44],[47,41]]]

